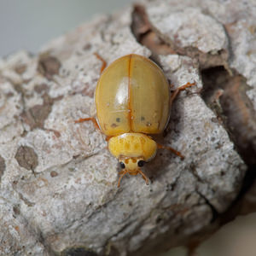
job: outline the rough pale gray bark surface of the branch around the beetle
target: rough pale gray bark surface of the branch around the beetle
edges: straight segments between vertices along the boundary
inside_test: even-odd
[[[253,2],[142,3],[153,30],[177,50],[155,61],[175,87],[196,83],[157,138],[185,160],[159,150],[143,169],[148,186],[124,177],[118,189],[104,136],[90,122],[74,123],[91,113],[102,65],[95,52],[108,63],[152,55],[131,30],[132,8],[99,16],[38,55],[0,60],[0,255],[156,255],[210,233],[236,200],[247,165],[200,95],[201,70],[240,73],[254,86],[247,96],[256,108]]]

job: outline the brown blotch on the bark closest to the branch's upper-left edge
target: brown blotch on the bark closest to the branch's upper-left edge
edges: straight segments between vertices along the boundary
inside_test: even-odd
[[[38,61],[38,72],[46,79],[52,80],[55,74],[59,74],[61,62],[54,56],[42,55]]]

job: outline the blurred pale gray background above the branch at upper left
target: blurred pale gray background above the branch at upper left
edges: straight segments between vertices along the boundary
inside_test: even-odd
[[[133,0],[0,0],[0,56],[32,53],[93,15],[113,13]]]

